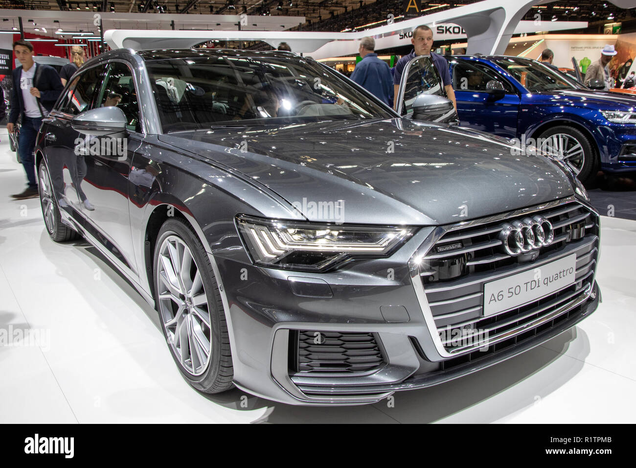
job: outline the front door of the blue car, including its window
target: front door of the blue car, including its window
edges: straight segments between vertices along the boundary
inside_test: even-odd
[[[480,62],[454,59],[450,66],[460,125],[516,138],[521,98],[515,87]]]

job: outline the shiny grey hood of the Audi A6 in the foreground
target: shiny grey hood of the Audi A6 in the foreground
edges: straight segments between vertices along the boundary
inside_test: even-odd
[[[445,224],[574,193],[553,162],[514,155],[503,139],[401,118],[226,127],[159,138],[240,171],[313,221]]]

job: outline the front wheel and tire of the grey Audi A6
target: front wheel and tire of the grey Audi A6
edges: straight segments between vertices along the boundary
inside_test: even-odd
[[[155,305],[163,336],[191,386],[216,394],[232,388],[230,338],[212,265],[193,230],[163,223],[153,257]]]

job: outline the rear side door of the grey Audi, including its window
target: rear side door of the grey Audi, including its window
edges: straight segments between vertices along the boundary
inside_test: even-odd
[[[106,65],[90,67],[69,83],[64,97],[44,120],[45,152],[53,190],[61,209],[74,217],[81,211],[81,193],[85,171],[81,157],[75,154],[79,132],[71,126],[71,119],[93,106],[104,78]],[[79,163],[79,164],[78,164]]]

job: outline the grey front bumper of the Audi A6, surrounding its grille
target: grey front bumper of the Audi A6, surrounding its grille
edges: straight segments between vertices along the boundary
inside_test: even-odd
[[[440,351],[434,328],[431,331],[431,311],[426,300],[418,297],[408,267],[418,248],[435,238],[435,231],[421,229],[388,259],[359,260],[320,274],[319,281],[307,280],[300,288],[288,278],[302,282],[299,277],[310,274],[217,258],[235,384],[251,394],[287,404],[377,402],[399,390],[436,385],[497,364],[576,325],[598,306],[600,291],[591,271],[588,287],[579,290],[558,313],[546,316],[549,323],[541,322],[534,333],[524,332],[512,344],[506,341],[485,351],[449,357]],[[589,242],[583,239],[578,245],[566,245],[544,260],[571,255],[583,244]],[[593,255],[590,252],[584,255],[586,261]],[[515,267],[515,273],[529,266]],[[389,315],[386,306],[399,306],[401,313]],[[384,362],[364,372],[300,372],[292,364],[292,337],[306,335],[305,330],[370,334]]]

